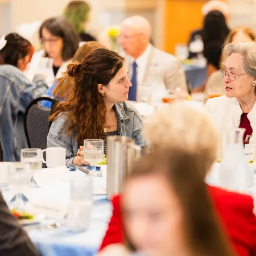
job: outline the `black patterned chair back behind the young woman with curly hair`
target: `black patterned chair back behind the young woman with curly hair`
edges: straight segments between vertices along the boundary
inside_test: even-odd
[[[53,101],[53,97],[43,96],[31,101],[24,116],[24,130],[29,148],[47,147],[49,115],[51,109],[41,105],[40,101]]]

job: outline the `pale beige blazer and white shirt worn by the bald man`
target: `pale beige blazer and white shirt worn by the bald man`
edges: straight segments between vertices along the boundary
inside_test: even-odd
[[[129,79],[133,77],[134,58],[126,57]],[[160,51],[151,44],[136,60],[137,63],[137,101],[162,102],[168,92],[177,87],[187,90],[185,73],[181,63],[170,53]]]

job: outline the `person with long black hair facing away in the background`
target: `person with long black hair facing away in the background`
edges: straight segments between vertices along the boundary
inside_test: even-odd
[[[229,34],[225,16],[220,11],[210,11],[204,18],[202,40],[207,60],[207,79],[220,69],[222,46]],[[207,81],[193,92],[204,92]]]

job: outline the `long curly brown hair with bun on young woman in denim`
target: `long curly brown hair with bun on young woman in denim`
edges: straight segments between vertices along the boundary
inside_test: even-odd
[[[77,142],[97,139],[104,135],[106,106],[98,84],[108,85],[123,66],[125,59],[108,49],[96,49],[81,62],[68,65],[67,73],[73,77],[73,86],[67,101],[59,102],[50,117],[54,121],[62,112],[67,112],[72,130],[77,133]]]

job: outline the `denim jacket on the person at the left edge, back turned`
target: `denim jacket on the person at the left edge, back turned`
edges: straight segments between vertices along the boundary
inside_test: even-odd
[[[20,150],[27,147],[25,110],[47,88],[42,75],[36,75],[32,82],[13,65],[0,65],[0,141],[4,161],[20,161]]]

